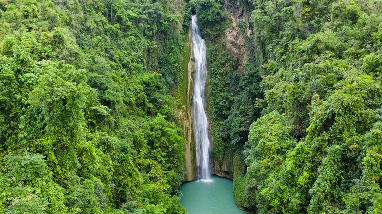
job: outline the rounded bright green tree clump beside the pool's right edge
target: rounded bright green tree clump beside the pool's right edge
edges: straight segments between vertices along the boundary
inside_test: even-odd
[[[275,180],[287,178],[278,175],[283,173],[281,170],[287,151],[296,144],[290,136],[292,130],[293,127],[287,124],[286,117],[276,111],[264,115],[251,125],[247,143],[250,149],[244,152],[248,154],[245,162],[248,167],[248,183],[256,183],[249,191],[254,191],[253,194],[257,195],[258,201],[269,201],[269,204],[266,202],[258,204],[257,207],[261,212],[266,212],[270,206],[276,211],[282,211],[280,206],[284,201],[278,200],[277,196],[285,192],[282,191],[283,184]]]

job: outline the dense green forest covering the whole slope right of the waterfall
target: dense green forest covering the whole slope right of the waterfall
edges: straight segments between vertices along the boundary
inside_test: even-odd
[[[235,164],[237,204],[256,213],[381,213],[381,1],[238,5],[253,32],[237,23],[245,69],[224,42],[208,51],[215,158],[237,152],[245,161]]]

